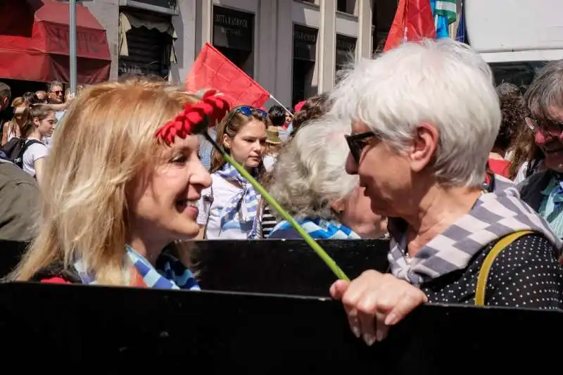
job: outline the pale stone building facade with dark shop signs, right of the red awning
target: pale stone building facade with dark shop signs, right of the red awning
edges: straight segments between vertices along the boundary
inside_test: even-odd
[[[381,46],[397,0],[90,0],[120,75],[181,83],[209,42],[285,106],[329,91]]]

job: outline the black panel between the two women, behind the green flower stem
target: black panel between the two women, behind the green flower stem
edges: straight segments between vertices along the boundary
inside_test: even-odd
[[[388,241],[317,242],[350,278],[366,269],[388,269]],[[329,296],[336,281],[305,241],[199,241],[196,248],[196,269],[206,290]]]

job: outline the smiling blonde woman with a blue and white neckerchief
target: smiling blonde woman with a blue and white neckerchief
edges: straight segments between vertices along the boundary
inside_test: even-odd
[[[172,253],[198,234],[210,175],[197,136],[155,137],[196,101],[143,80],[85,89],[46,160],[39,236],[8,279],[197,289]]]

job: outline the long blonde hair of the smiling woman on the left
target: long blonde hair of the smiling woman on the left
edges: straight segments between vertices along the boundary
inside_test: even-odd
[[[163,151],[156,130],[198,100],[139,78],[84,89],[46,159],[39,235],[8,279],[81,259],[99,284],[124,284],[130,183]]]

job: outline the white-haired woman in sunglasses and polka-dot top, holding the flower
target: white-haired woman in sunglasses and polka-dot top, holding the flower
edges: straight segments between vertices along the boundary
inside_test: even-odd
[[[347,170],[390,217],[391,273],[331,286],[358,337],[383,339],[426,301],[561,306],[561,241],[507,179],[482,190],[500,108],[477,53],[452,40],[403,44],[358,63],[332,97],[331,115],[352,127]]]

